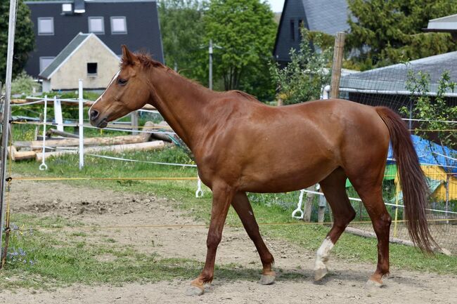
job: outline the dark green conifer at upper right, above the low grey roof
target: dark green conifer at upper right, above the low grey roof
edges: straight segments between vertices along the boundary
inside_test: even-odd
[[[348,0],[348,5],[347,45],[359,50],[366,68],[457,49],[451,34],[423,32],[428,20],[457,13],[455,0]]]

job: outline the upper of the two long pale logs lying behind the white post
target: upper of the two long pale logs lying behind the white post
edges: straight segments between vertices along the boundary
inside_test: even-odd
[[[143,143],[143,136],[140,135],[127,135],[127,136],[112,136],[112,137],[93,137],[84,138],[85,146],[94,145],[124,145],[129,143]],[[30,147],[37,149],[42,147],[43,142],[41,140],[32,141],[16,141],[15,147]],[[71,147],[79,145],[78,138],[67,138],[62,140],[46,140],[46,147]]]

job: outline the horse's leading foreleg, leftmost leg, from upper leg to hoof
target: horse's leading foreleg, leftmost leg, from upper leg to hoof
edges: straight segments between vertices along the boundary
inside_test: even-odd
[[[227,217],[235,190],[225,183],[213,184],[212,187],[212,209],[210,230],[206,241],[207,253],[205,267],[202,273],[191,282],[191,287],[186,294],[201,295],[205,291],[205,283],[212,282],[214,275],[214,260],[216,259],[217,246],[221,242],[222,230]]]

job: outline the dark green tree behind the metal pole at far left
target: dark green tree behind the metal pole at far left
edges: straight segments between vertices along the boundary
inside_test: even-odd
[[[0,81],[5,81],[6,75],[6,54],[8,48],[8,20],[10,1],[0,2]],[[16,77],[25,67],[28,53],[33,51],[35,36],[33,23],[30,20],[30,9],[24,1],[18,0],[18,15],[15,28],[13,78]]]

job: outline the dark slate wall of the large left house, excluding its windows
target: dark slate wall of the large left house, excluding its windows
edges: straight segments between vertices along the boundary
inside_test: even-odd
[[[155,1],[86,1],[86,13],[63,15],[62,4],[72,1],[29,1],[34,23],[35,49],[29,54],[25,70],[38,77],[39,58],[56,57],[60,51],[79,33],[89,33],[89,17],[103,17],[105,33],[97,34],[116,54],[121,54],[121,45],[132,51],[146,51],[155,60],[163,62],[162,38],[160,34],[157,3]],[[127,20],[127,34],[111,34],[110,17],[124,16]],[[37,22],[41,17],[53,17],[54,34],[39,36]]]

